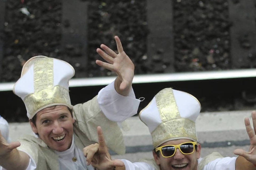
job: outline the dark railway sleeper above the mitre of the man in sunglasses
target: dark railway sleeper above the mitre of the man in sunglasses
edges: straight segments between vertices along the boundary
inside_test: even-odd
[[[173,2],[147,0],[147,56],[154,62],[153,72],[174,71]]]

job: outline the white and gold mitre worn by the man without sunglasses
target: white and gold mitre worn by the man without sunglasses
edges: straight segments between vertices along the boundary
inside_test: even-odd
[[[72,108],[69,97],[69,79],[74,68],[57,58],[35,56],[23,66],[21,78],[14,84],[13,92],[21,97],[29,119],[40,110],[53,105]]]

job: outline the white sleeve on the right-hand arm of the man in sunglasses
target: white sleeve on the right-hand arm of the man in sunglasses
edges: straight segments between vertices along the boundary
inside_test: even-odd
[[[235,160],[237,157],[225,157],[215,159],[203,167],[203,170],[235,170]]]

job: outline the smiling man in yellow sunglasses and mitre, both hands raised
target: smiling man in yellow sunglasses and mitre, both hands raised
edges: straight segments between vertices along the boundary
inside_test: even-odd
[[[238,157],[223,158],[218,152],[200,158],[195,120],[201,110],[199,101],[192,95],[165,88],[141,110],[139,117],[149,128],[153,142],[154,159],[132,163],[129,160],[111,160],[98,127],[98,141],[83,149],[88,164],[98,170],[249,170],[256,164],[256,112],[252,112],[254,129],[248,118],[246,130],[250,138],[249,152],[235,150]]]

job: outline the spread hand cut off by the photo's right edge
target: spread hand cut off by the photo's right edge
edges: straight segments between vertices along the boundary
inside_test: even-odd
[[[248,117],[245,118],[245,127],[247,134],[250,138],[250,148],[249,152],[246,152],[242,149],[234,150],[234,154],[243,156],[249,162],[256,164],[256,111],[251,113],[251,117],[253,119],[253,129],[251,128],[250,120]]]

